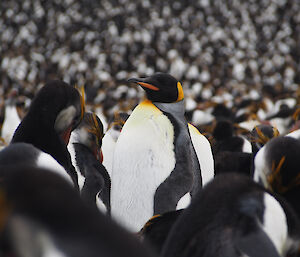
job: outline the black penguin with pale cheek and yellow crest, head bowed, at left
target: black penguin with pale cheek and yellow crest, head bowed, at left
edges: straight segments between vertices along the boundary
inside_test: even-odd
[[[11,143],[32,144],[61,164],[77,186],[77,174],[67,149],[70,134],[84,114],[84,98],[77,89],[53,80],[37,93]]]

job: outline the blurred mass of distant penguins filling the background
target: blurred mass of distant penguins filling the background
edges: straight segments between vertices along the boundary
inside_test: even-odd
[[[218,95],[292,95],[299,10],[293,0],[1,1],[0,95],[16,89],[26,106],[50,79],[85,84],[108,119],[142,95],[126,79],[158,71],[182,81],[188,111]]]

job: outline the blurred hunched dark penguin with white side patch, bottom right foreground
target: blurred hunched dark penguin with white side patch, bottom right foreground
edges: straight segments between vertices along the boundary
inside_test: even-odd
[[[299,219],[250,178],[224,174],[192,199],[172,227],[163,257],[295,256]]]

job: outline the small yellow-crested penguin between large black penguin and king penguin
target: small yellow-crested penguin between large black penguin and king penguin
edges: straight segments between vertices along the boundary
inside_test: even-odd
[[[110,213],[110,177],[102,165],[103,125],[95,113],[86,112],[72,132],[68,150],[78,175],[82,198]]]

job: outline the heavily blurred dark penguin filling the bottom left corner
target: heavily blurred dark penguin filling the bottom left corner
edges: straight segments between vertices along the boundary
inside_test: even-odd
[[[0,256],[153,256],[58,175],[22,165],[0,178]]]

